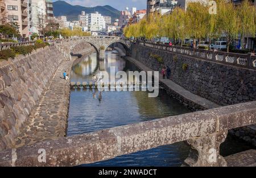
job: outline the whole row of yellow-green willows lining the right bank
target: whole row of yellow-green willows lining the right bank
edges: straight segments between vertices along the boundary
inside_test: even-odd
[[[217,0],[216,14],[210,13],[213,6],[201,2],[188,3],[187,11],[176,7],[171,14],[150,14],[137,24],[125,27],[126,38],[153,38],[167,37],[180,42],[184,39],[193,39],[195,48],[196,39],[208,39],[226,36],[229,52],[230,44],[238,36],[254,36],[256,32],[255,6],[245,0],[240,6],[232,2]]]

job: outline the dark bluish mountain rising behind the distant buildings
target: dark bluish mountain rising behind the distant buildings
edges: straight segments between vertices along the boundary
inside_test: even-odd
[[[82,7],[70,5],[65,1],[53,2],[54,16],[65,15],[67,16],[68,21],[78,20],[81,11],[85,11],[86,14],[98,11],[101,15],[111,16],[112,22],[114,22],[115,19],[119,19],[120,15],[120,11],[111,6]]]

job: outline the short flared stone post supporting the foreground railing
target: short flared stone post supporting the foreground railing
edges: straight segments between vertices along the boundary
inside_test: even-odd
[[[187,140],[191,151],[185,163],[191,167],[227,166],[225,159],[220,155],[220,144],[225,141],[227,134],[228,130]]]

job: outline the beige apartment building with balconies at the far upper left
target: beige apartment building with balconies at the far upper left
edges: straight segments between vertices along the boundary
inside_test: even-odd
[[[19,32],[23,37],[28,37],[28,2],[27,0],[6,0],[7,22],[17,22]]]

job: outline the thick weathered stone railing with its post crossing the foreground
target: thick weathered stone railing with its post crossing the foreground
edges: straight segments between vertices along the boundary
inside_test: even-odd
[[[256,101],[197,111],[0,152],[0,166],[73,166],[187,140],[192,166],[226,166],[220,144],[228,130],[256,123]]]

